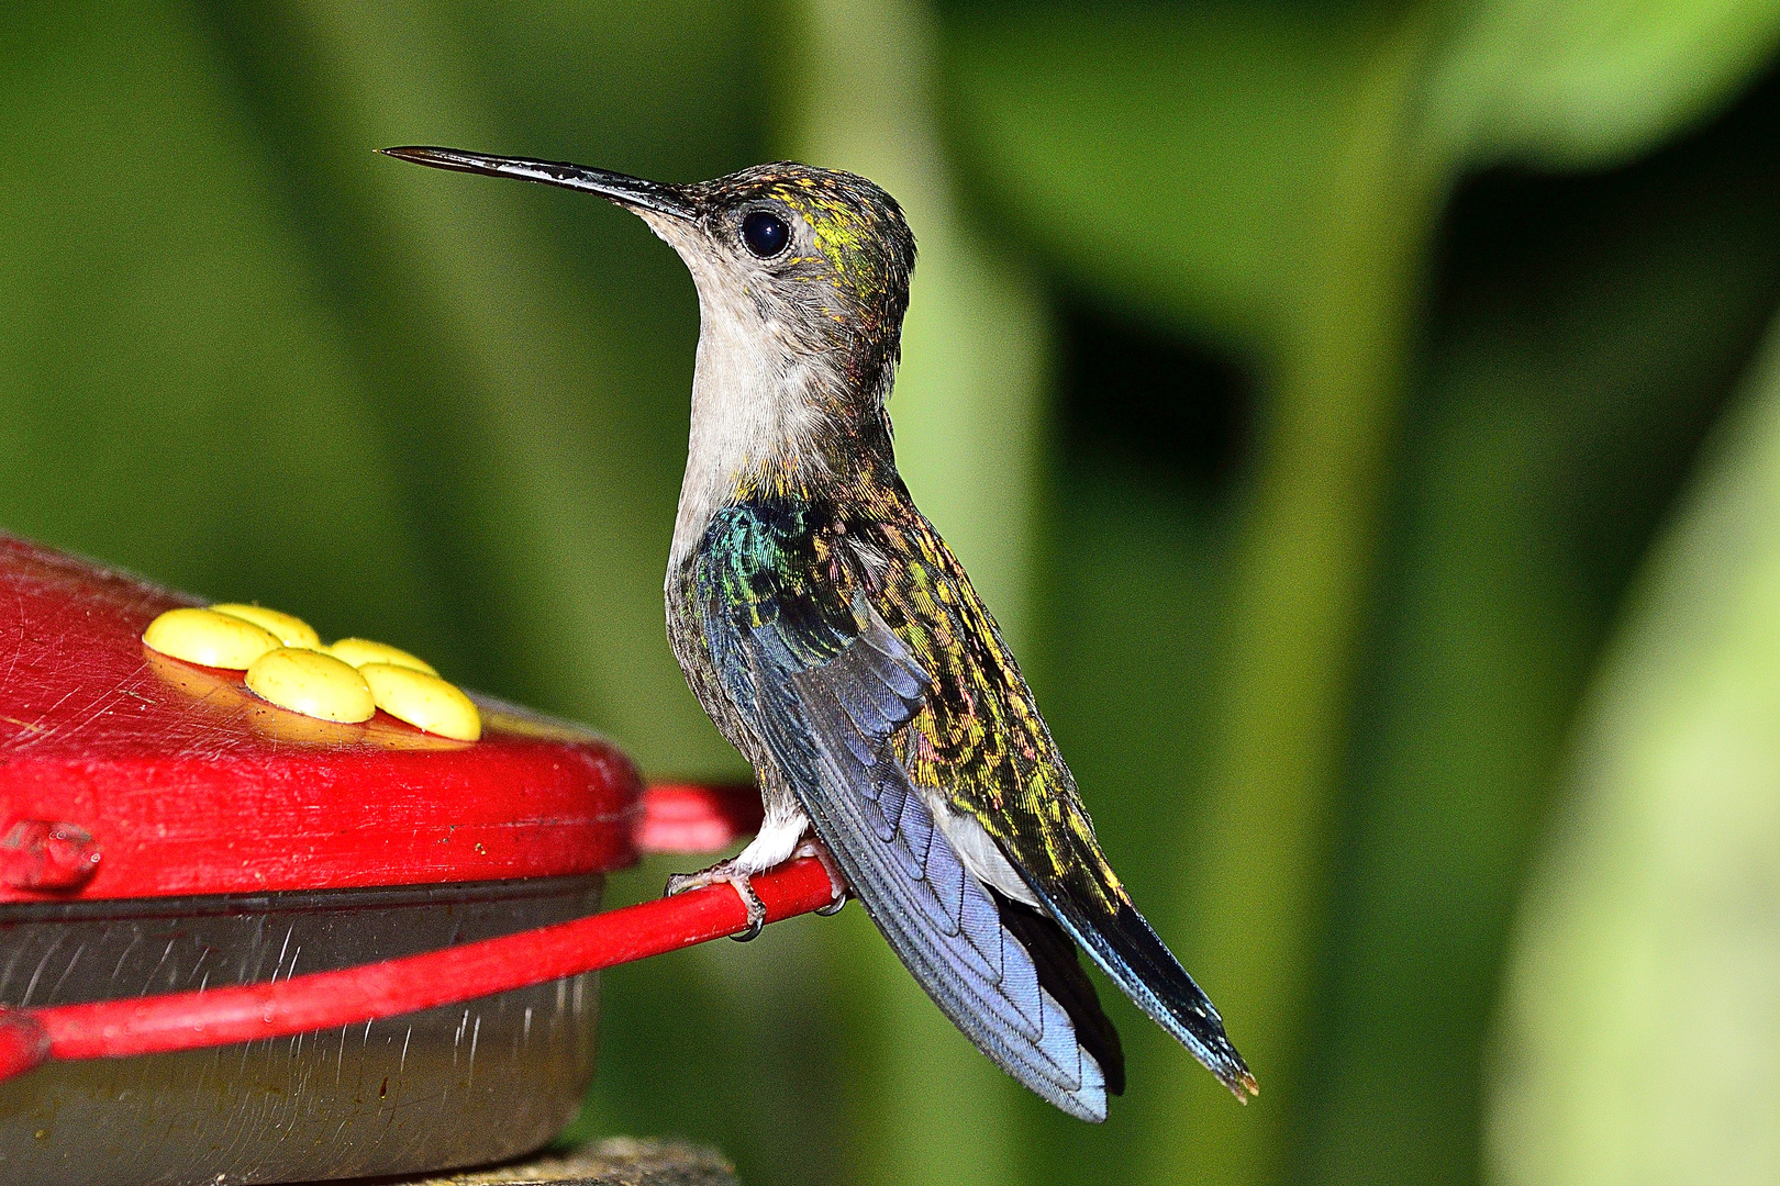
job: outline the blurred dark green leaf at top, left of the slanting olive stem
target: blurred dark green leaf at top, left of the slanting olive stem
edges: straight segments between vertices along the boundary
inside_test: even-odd
[[[999,9],[949,27],[984,203],[1072,283],[1273,343],[1367,27],[1342,5]]]

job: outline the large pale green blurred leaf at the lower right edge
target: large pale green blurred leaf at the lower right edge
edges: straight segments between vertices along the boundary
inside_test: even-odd
[[[1504,1182],[1757,1182],[1775,1166],[1776,347],[1768,334],[1582,715],[1495,1051]]]

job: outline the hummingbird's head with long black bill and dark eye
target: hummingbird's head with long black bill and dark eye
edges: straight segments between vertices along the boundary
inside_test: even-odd
[[[895,199],[865,178],[778,162],[666,185],[445,148],[383,151],[438,169],[584,190],[630,210],[691,268],[703,315],[700,368],[735,368],[730,398],[805,402],[801,411],[835,418],[881,416],[901,349],[915,236]],[[714,352],[726,357],[707,357]],[[799,409],[783,411],[796,418]]]

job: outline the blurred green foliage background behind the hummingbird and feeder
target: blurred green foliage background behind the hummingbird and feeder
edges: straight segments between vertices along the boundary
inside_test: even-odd
[[[577,1131],[1780,1181],[1776,48],[1775,0],[12,0],[0,528],[735,775],[660,624],[682,265],[370,149],[865,172],[910,485],[1262,1097],[1114,999],[1129,1097],[1068,1120],[854,909],[611,973]]]

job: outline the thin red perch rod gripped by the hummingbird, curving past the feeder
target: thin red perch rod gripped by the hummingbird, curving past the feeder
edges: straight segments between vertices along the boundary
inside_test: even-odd
[[[657,802],[646,804],[651,814]],[[644,848],[676,846],[660,839],[666,843]],[[701,845],[710,839],[696,836]],[[828,873],[810,857],[762,873],[753,885],[769,923],[808,914],[833,898]],[[708,885],[571,923],[276,983],[32,1010],[0,1006],[0,1079],[50,1058],[160,1054],[411,1014],[678,951],[746,925],[740,896],[730,885]]]

